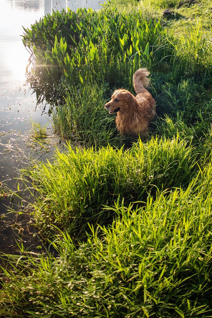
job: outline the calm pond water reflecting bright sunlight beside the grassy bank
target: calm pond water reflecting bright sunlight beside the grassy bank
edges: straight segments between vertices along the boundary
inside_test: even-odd
[[[51,122],[47,114],[42,114],[44,105],[37,105],[36,94],[25,84],[26,66],[30,58],[29,52],[22,43],[24,27],[30,27],[36,20],[52,10],[69,7],[101,8],[101,1],[96,0],[1,0],[0,10],[0,184],[13,191],[17,190],[19,169],[29,164],[29,159],[46,160],[52,156],[51,150],[59,139],[51,132]],[[48,111],[48,107],[47,111]],[[29,138],[31,121],[47,125],[48,137],[45,147]],[[46,149],[48,151],[46,152]],[[18,192],[19,194],[19,192]],[[29,193],[20,193],[20,197],[8,197],[0,201],[0,251],[11,252],[15,246],[14,227],[17,234],[24,238],[30,233],[25,213],[17,218],[10,212],[22,211],[30,200]],[[12,202],[11,202],[12,201]],[[9,209],[9,210],[8,210]],[[6,217],[4,215],[7,214]],[[34,237],[32,235],[32,237]],[[23,242],[30,241],[20,239]],[[32,243],[35,242],[32,240]]]

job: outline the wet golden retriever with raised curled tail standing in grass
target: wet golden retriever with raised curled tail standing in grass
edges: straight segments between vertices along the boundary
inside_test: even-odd
[[[149,72],[138,69],[133,75],[136,97],[126,89],[117,89],[105,104],[109,114],[118,113],[116,126],[122,136],[148,136],[149,123],[155,116],[155,100],[145,87],[149,86]]]

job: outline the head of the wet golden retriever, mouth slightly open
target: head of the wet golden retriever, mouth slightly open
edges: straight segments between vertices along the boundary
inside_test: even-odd
[[[109,114],[124,111],[133,102],[134,96],[126,89],[117,89],[111,100],[105,104],[105,109],[109,110]]]

